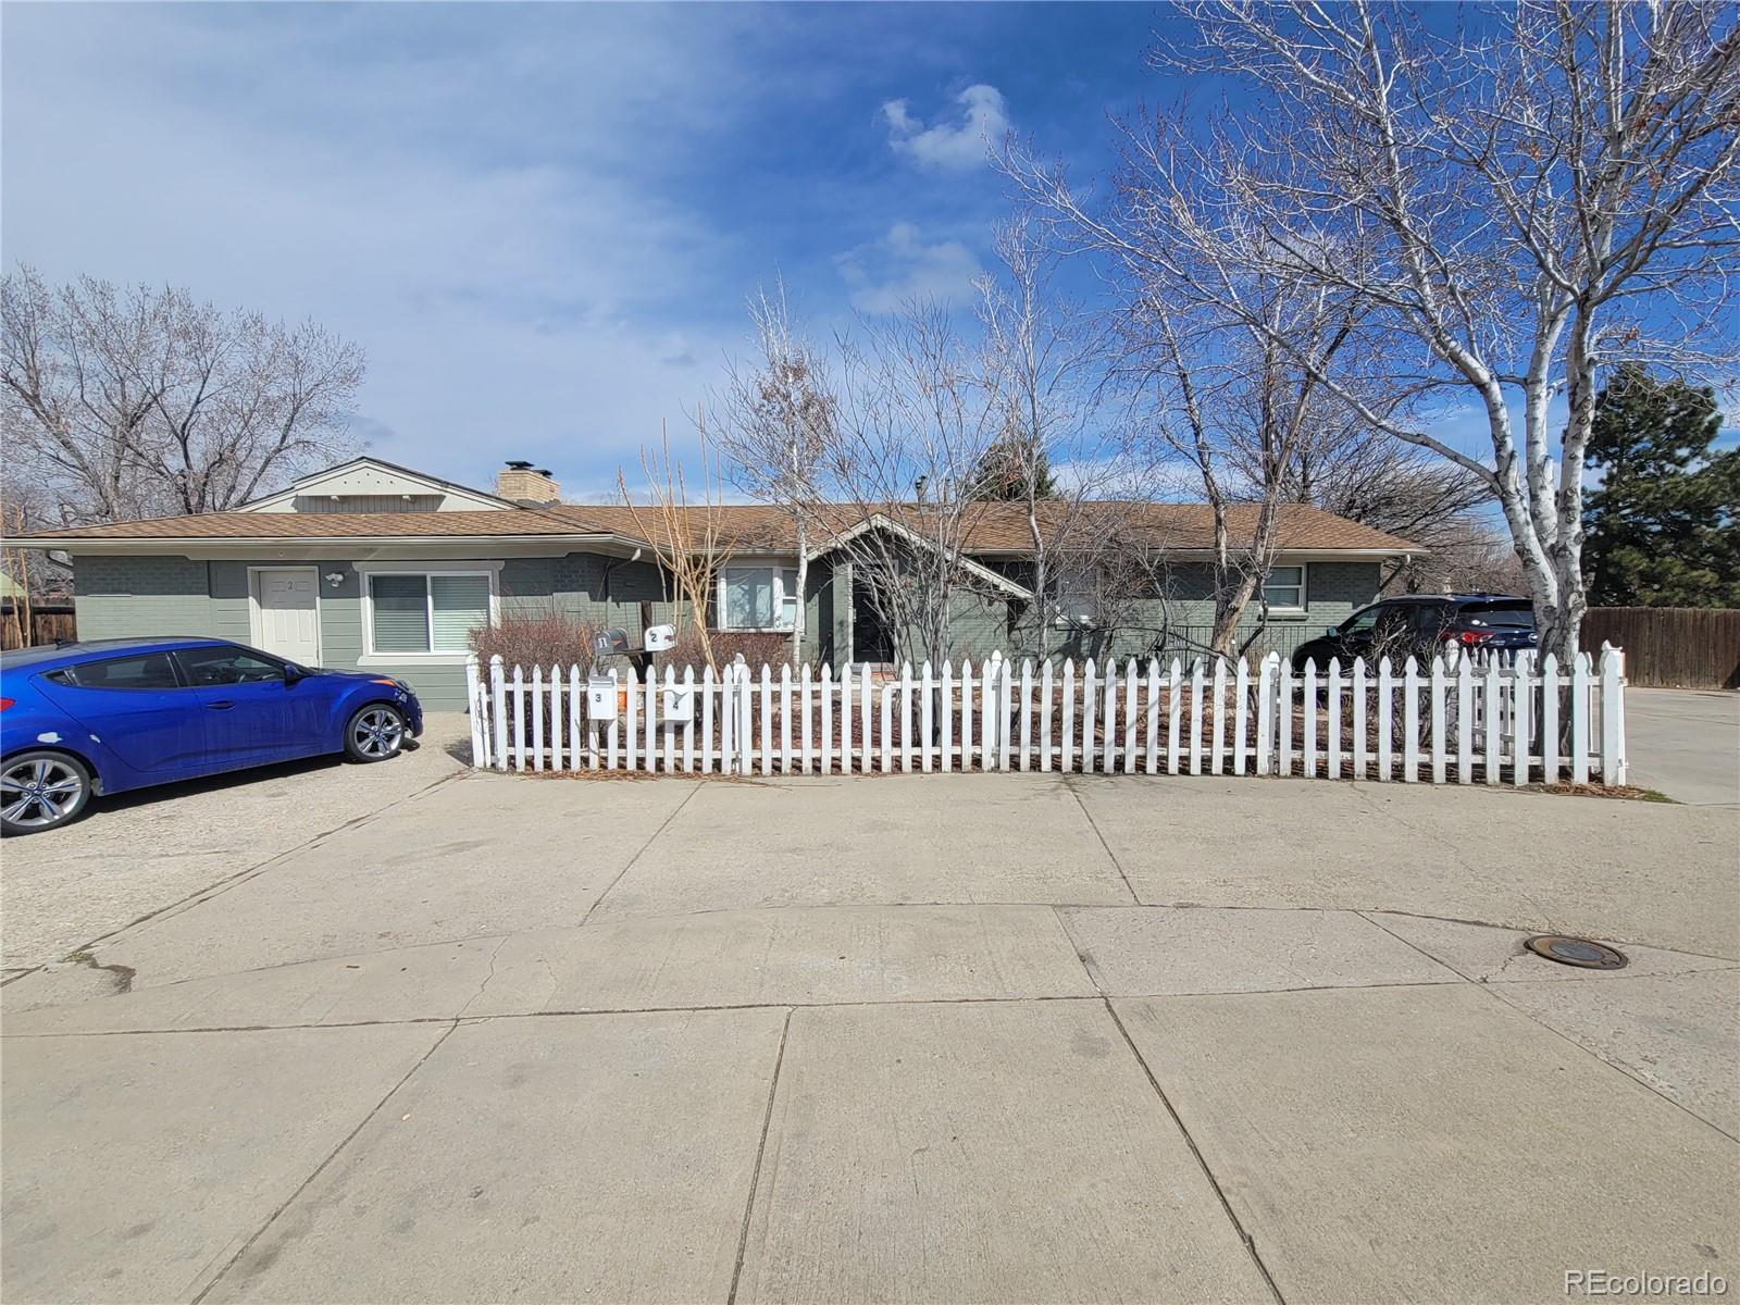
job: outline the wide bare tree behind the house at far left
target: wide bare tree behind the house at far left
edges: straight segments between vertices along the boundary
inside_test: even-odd
[[[362,350],[181,289],[0,282],[9,478],[59,524],[223,512],[357,447]]]

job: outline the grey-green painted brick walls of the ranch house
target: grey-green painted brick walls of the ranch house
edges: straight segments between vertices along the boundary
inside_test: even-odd
[[[489,560],[489,559],[478,559]],[[303,566],[301,562],[261,560],[258,566]],[[362,658],[362,585],[355,562],[313,562],[320,572],[318,616],[320,658],[339,670],[371,670],[407,680],[433,712],[465,706],[465,666],[428,661]],[[445,566],[445,564],[444,564]],[[452,566],[465,566],[454,562]],[[1007,564],[999,562],[999,569]],[[338,574],[339,583],[327,583]],[[1011,578],[1016,578],[1013,569]],[[251,640],[249,562],[190,560],[184,557],[78,555],[73,559],[75,602],[80,639],[118,639],[137,635],[211,635]],[[1265,644],[1289,649],[1303,637],[1347,618],[1378,593],[1376,562],[1310,562],[1307,572],[1305,612],[1274,616]],[[508,559],[499,572],[499,609],[503,612],[555,611],[592,626],[621,626],[639,642],[646,623],[677,623],[680,604],[665,597],[659,571],[647,560],[628,562],[599,553],[566,557]],[[1206,635],[1213,621],[1208,572],[1181,567],[1174,572],[1173,593],[1166,600],[1136,604],[1124,628],[1110,632],[1053,630],[1053,656],[1190,656],[1176,642],[1155,647],[1161,626],[1190,626]],[[842,665],[851,656],[851,564],[844,559],[818,559],[809,566],[804,593],[804,656],[814,663]],[[646,607],[642,607],[646,604]],[[646,611],[649,621],[642,619]],[[992,651],[1034,656],[1037,639],[1032,628],[1032,604],[1011,604],[1006,595],[962,586],[950,614],[952,649],[959,661],[981,661]]]

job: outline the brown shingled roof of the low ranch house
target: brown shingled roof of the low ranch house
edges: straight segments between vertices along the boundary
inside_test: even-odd
[[[1202,503],[1098,503],[1096,512],[1117,512],[1128,517],[1128,527],[1164,548],[1204,550],[1213,546],[1213,515]],[[1042,512],[1063,512],[1063,505],[1041,505]],[[717,513],[717,536],[734,552],[790,552],[795,548],[795,531],[780,508],[760,505],[727,505],[719,508],[689,508],[701,517]],[[922,508],[903,505],[889,515],[915,524]],[[832,506],[837,529],[847,529],[863,520],[854,506]],[[42,531],[14,543],[54,548],[56,539],[139,539],[139,541],[198,541],[198,539],[432,539],[432,538],[572,538],[621,536],[646,541],[656,536],[658,512],[652,508],[592,506],[564,503],[550,508],[501,508],[496,512],[214,512],[200,517],[153,517],[148,520],[113,522],[108,525],[77,525],[64,531]],[[1234,539],[1249,538],[1256,522],[1255,506],[1235,506],[1230,512]],[[973,506],[966,529],[969,553],[1020,553],[1028,548],[1027,515],[1020,503],[978,503]],[[1286,505],[1281,508],[1281,548],[1289,552],[1422,552],[1418,545],[1397,539],[1394,534],[1350,522],[1319,508]]]

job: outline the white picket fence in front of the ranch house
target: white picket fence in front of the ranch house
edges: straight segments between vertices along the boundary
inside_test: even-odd
[[[466,668],[472,757],[498,771],[849,774],[1072,771],[1514,785],[1625,783],[1625,658],[1355,659],[1296,675],[1134,658],[1081,668],[994,656],[900,675],[745,665],[614,682],[586,712],[579,666]]]

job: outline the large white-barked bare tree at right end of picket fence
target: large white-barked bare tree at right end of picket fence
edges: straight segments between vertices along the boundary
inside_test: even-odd
[[[1420,400],[1472,404],[1489,454],[1423,404],[1373,409],[1345,362],[1241,315],[1369,425],[1496,496],[1542,646],[1576,649],[1583,458],[1604,367],[1731,367],[1740,247],[1740,28],[1695,0],[1519,0],[1444,33],[1371,0],[1202,0],[1201,45],[1159,63],[1253,96],[1215,132],[1164,118],[1126,134],[1134,186],[1089,211],[1061,176],[1011,160],[1079,237],[1185,273],[1275,271],[1366,313],[1359,358]],[[1559,430],[1552,400],[1568,416]]]

